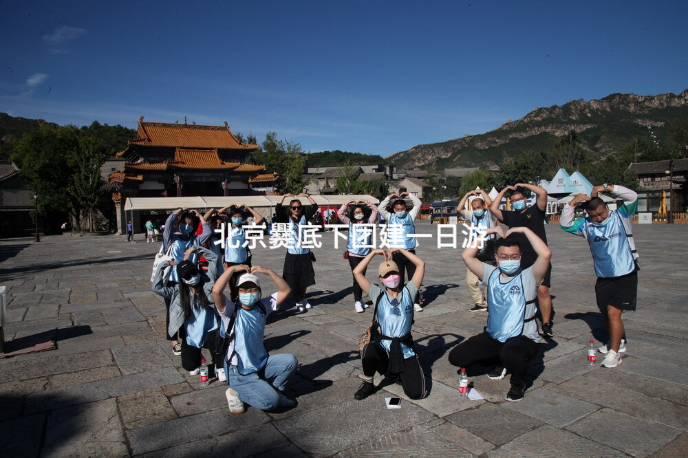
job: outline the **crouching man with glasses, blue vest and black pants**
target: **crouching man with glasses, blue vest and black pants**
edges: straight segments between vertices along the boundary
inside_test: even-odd
[[[515,233],[525,235],[537,254],[535,263],[524,270],[520,267],[519,243],[508,237]],[[490,311],[487,327],[481,334],[454,347],[449,352],[449,362],[457,367],[469,367],[476,362],[498,363],[488,377],[500,380],[510,373],[511,389],[506,400],[518,402],[526,391],[527,364],[538,351],[540,336],[535,323],[535,298],[537,285],[547,273],[552,253],[535,232],[523,226],[511,228],[506,235],[500,227],[490,228],[485,234],[504,236],[495,243],[495,260],[499,267],[480,262],[475,257],[477,248],[466,248],[461,257],[480,281],[487,284]]]

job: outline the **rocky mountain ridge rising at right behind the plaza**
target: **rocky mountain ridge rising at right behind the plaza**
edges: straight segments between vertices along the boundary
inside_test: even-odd
[[[688,89],[657,96],[611,94],[600,100],[570,100],[561,106],[535,108],[493,131],[419,144],[386,159],[398,168],[490,166],[507,155],[546,151],[571,130],[577,132],[584,149],[605,155],[620,151],[634,138],[650,140],[650,129],[661,140],[667,128],[681,120],[688,120]]]

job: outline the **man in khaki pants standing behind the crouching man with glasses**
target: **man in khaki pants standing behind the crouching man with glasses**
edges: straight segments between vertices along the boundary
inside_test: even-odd
[[[464,206],[471,196],[475,196],[475,199],[471,200],[472,210],[466,210]],[[461,199],[457,206],[457,211],[466,221],[470,221],[471,225],[484,231],[497,226],[497,218],[488,210],[491,204],[492,199],[490,199],[490,196],[488,196],[484,190],[481,189],[480,192],[472,190],[466,193]],[[493,240],[495,236],[490,235],[488,237],[490,238],[486,239],[485,243],[487,243],[487,240]],[[466,268],[466,287],[468,287],[469,294],[471,294],[473,303],[475,303],[473,308],[469,309],[469,312],[487,310],[487,301],[485,299],[485,294],[482,292],[480,279],[478,279],[477,275],[469,268]]]

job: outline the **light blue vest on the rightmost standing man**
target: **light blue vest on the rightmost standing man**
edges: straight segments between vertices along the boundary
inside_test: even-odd
[[[630,274],[636,268],[633,252],[621,215],[612,211],[606,226],[598,227],[585,218],[585,237],[588,239],[595,273],[602,278]]]

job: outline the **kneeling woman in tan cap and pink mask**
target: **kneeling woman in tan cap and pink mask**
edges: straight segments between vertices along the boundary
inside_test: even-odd
[[[398,265],[391,261],[392,254],[399,252],[415,267],[413,278],[400,288],[400,272]],[[380,282],[385,286],[381,289],[372,285],[365,278],[363,272],[376,254],[383,254],[385,261],[378,269]],[[375,371],[381,374],[398,376],[404,388],[404,393],[411,399],[427,397],[425,389],[425,375],[420,367],[420,360],[413,350],[411,325],[413,325],[413,298],[422,284],[425,274],[425,261],[409,250],[391,248],[391,250],[373,250],[356,268],[354,278],[369,298],[375,301],[374,319],[378,320],[379,334],[375,340],[361,349],[361,365],[363,366],[363,383],[358,388],[354,398],[363,400],[375,391],[373,376]]]

